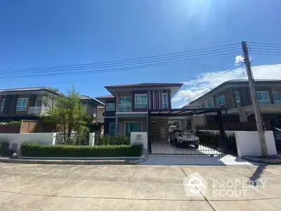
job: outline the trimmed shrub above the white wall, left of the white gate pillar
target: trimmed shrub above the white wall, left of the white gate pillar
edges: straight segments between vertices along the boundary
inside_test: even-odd
[[[97,136],[95,140],[95,145],[130,145],[131,141],[129,137],[122,134],[117,136]]]

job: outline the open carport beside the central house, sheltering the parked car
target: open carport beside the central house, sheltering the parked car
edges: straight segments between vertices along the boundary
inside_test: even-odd
[[[171,155],[218,155],[228,153],[226,147],[226,133],[223,127],[222,111],[227,108],[178,108],[178,109],[151,109],[148,110],[148,152],[150,154],[171,154]],[[167,131],[168,120],[186,120],[190,117],[192,122],[193,115],[203,115],[205,113],[216,113],[216,122],[219,126],[219,141],[216,141],[216,146],[209,147],[200,144],[199,147],[187,146],[178,147],[171,144],[171,134]],[[166,126],[164,126],[166,125]],[[195,127],[192,125],[192,131],[195,132]],[[189,134],[188,140],[197,139],[198,136]],[[201,137],[206,141],[209,139],[206,135]],[[201,139],[200,138],[200,139]],[[209,141],[209,140],[207,140]],[[210,142],[213,141],[210,138]]]

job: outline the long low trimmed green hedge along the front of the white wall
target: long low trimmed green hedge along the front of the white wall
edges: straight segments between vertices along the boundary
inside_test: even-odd
[[[22,156],[36,157],[121,157],[141,156],[143,145],[110,145],[110,146],[67,146],[42,145],[24,142],[20,146]]]

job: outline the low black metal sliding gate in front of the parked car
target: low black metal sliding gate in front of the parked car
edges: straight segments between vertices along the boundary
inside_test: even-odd
[[[221,155],[220,136],[206,134],[150,134],[150,154],[159,155]]]

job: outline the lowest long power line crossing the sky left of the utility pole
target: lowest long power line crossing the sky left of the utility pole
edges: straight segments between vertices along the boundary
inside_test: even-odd
[[[74,71],[74,72],[66,72],[70,70],[63,70],[61,72],[55,71],[53,74],[48,71],[46,74],[39,74],[39,75],[18,75],[18,73],[10,74],[10,76],[5,76],[1,77],[1,79],[9,79],[9,78],[16,78],[16,77],[42,77],[42,76],[55,76],[55,75],[69,75],[69,74],[75,74],[75,73],[86,73],[86,72],[115,72],[115,71],[124,71],[124,70],[134,70],[134,69],[141,69],[141,68],[151,68],[151,67],[157,67],[157,66],[162,66],[162,65],[174,65],[178,63],[186,63],[190,61],[199,61],[199,60],[207,60],[207,59],[216,59],[216,58],[225,58],[228,56],[234,56],[236,53],[240,53],[240,51],[234,51],[231,53],[221,53],[221,54],[216,54],[212,56],[204,56],[200,58],[189,58],[189,59],[184,59],[184,60],[176,60],[172,62],[163,62],[163,63],[156,63],[156,64],[148,64],[148,65],[136,65],[136,66],[131,66],[131,67],[126,67],[126,68],[107,68],[105,70],[88,70],[88,69],[93,69],[93,68],[78,68],[75,70],[84,70],[84,71]],[[74,69],[72,69],[74,70]],[[37,73],[37,72],[34,72]],[[5,74],[9,75],[9,74]]]

